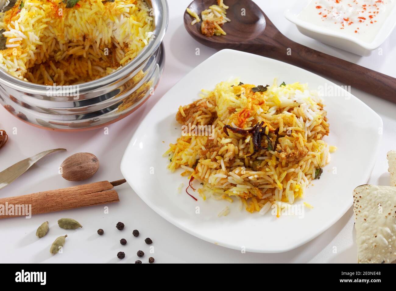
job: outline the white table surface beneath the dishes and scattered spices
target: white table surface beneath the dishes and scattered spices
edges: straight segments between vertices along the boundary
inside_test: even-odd
[[[168,2],[170,20],[164,39],[166,66],[162,80],[155,94],[143,107],[124,120],[109,126],[108,135],[104,134],[103,129],[81,133],[46,131],[25,124],[11,116],[3,107],[0,108],[0,129],[5,129],[10,135],[7,145],[0,150],[0,170],[43,150],[67,148],[67,152],[57,152],[45,157],[15,182],[0,190],[1,198],[78,184],[68,182],[58,174],[61,162],[76,152],[91,152],[100,160],[99,171],[93,178],[87,180],[87,183],[122,179],[121,158],[143,116],[176,82],[216,51],[199,44],[187,34],[183,26],[183,13],[190,0],[168,0]],[[300,34],[296,27],[283,16],[284,10],[293,0],[256,0],[255,2],[265,11],[274,25],[292,40],[396,77],[396,31],[381,46],[382,55],[374,51],[369,57],[359,57]],[[198,56],[195,54],[196,48],[200,48]],[[356,76],[356,78],[358,77]],[[386,152],[396,149],[396,105],[354,88],[352,88],[352,94],[373,108],[383,118],[383,139],[380,149],[376,153],[377,162],[368,182],[389,185]],[[174,110],[174,108],[167,109]],[[346,124],[346,126],[348,125]],[[14,127],[17,129],[15,135],[12,134]],[[369,138],[367,136],[367,139]],[[351,141],[352,145],[353,141]],[[351,195],[349,189],[336,190],[345,191],[345,195]],[[200,240],[168,223],[152,211],[128,184],[118,186],[117,191],[121,202],[109,204],[108,214],[104,214],[101,205],[36,215],[31,219],[22,217],[0,221],[0,249],[2,250],[0,262],[131,263],[138,259],[136,252],[139,249],[146,253],[142,258],[143,263],[147,262],[150,256],[154,257],[157,263],[356,262],[352,207],[326,232],[297,249],[279,254],[241,253]],[[158,185],[158,192],[160,191],[161,186]],[[84,227],[78,230],[64,231],[57,226],[57,220],[62,217],[74,218]],[[35,236],[36,228],[44,221],[49,221],[50,230],[47,236],[38,240]],[[126,227],[123,231],[115,228],[118,221],[125,223]],[[105,230],[104,236],[97,235],[98,228]],[[134,229],[138,229],[141,233],[138,238],[132,236]],[[63,253],[50,255],[51,243],[57,236],[63,234],[69,235]],[[146,237],[150,237],[154,241],[152,244],[154,254],[149,253],[149,247],[144,242]],[[126,238],[127,245],[120,245],[121,238]],[[117,259],[118,251],[124,251],[126,259]]]

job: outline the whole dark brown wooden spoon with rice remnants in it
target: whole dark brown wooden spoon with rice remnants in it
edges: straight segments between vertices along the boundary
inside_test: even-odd
[[[188,8],[201,17],[201,11],[215,3],[215,0],[194,0]],[[229,6],[227,17],[231,19],[231,22],[223,25],[227,35],[204,36],[201,33],[202,21],[191,25],[194,19],[186,12],[184,25],[188,33],[205,46],[238,49],[277,59],[396,103],[396,78],[293,42],[251,0],[227,0],[225,4]],[[242,11],[246,11],[246,14],[242,15]]]

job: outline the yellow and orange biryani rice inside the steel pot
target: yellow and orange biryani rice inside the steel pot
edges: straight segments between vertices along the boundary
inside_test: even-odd
[[[143,0],[80,0],[72,8],[59,0],[17,0],[0,12],[0,28],[6,37],[0,68],[46,85],[101,78],[154,37],[152,12]]]

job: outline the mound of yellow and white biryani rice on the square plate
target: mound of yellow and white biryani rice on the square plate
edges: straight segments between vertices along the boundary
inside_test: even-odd
[[[176,120],[213,125],[214,138],[182,135],[164,156],[169,156],[171,171],[183,168],[182,176],[203,184],[198,192],[204,200],[240,198],[247,211],[264,214],[273,204],[293,204],[303,197],[335,147],[322,140],[329,133],[327,112],[307,84],[278,86],[275,80],[267,91],[253,88],[234,80],[217,84],[213,91],[202,90],[201,99],[179,108]],[[225,125],[251,129],[260,122],[270,137],[262,142],[271,143],[271,148],[258,152],[251,134],[228,130],[227,136],[224,131]]]

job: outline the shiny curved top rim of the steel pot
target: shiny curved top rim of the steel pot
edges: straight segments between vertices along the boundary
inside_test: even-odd
[[[111,74],[99,78],[97,80],[78,84],[80,93],[84,93],[95,89],[97,87],[104,87],[113,84],[118,80],[127,76],[130,72],[139,67],[146,59],[148,59],[159,48],[164,39],[169,23],[169,8],[166,0],[145,0],[154,9],[154,40],[151,40],[148,45],[135,57],[129,61],[124,67],[115,70]],[[5,84],[13,89],[25,91],[26,93],[45,95],[48,92],[46,85],[34,84],[27,82],[8,74],[0,69],[0,84]],[[65,89],[65,93],[70,93],[72,88]],[[70,91],[70,92],[69,92]]]

